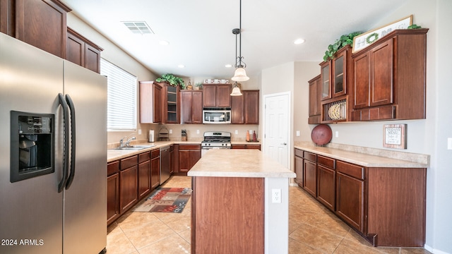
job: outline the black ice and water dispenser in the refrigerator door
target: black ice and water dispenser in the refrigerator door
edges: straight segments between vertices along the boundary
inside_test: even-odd
[[[11,111],[11,183],[54,172],[54,114]]]

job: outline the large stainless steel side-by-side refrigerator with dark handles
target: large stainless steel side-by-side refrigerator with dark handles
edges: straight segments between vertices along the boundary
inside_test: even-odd
[[[102,253],[107,78],[0,33],[0,253]]]

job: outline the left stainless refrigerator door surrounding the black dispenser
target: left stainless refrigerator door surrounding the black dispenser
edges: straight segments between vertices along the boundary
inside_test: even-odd
[[[61,253],[63,193],[62,133],[55,129],[55,171],[10,182],[10,111],[55,114],[63,60],[0,33],[0,253]]]

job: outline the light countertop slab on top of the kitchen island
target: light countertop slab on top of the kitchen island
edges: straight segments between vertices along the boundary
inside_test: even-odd
[[[295,178],[296,174],[259,150],[213,149],[188,176]]]

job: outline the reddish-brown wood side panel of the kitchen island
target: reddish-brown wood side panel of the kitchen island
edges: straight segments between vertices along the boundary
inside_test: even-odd
[[[263,178],[192,180],[191,253],[264,253]]]

